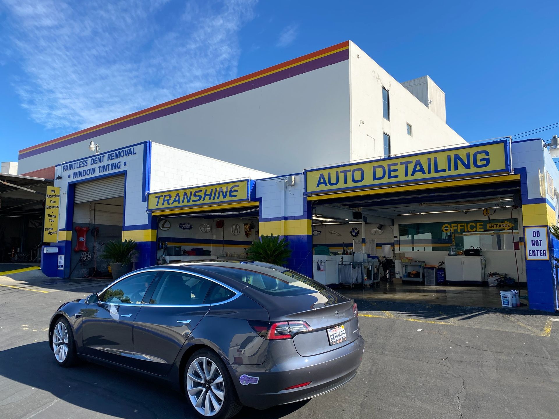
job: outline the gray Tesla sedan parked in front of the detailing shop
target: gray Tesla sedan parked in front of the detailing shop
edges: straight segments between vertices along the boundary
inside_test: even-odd
[[[347,383],[364,351],[357,305],[282,266],[207,261],[153,266],[62,304],[49,345],[162,378],[200,417],[228,418]]]

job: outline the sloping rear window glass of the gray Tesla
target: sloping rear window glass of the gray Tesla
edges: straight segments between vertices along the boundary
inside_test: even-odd
[[[267,269],[270,271],[269,275],[250,269],[223,266],[211,266],[209,269],[273,296],[291,297],[326,291],[324,285],[286,268],[281,268],[282,270]]]

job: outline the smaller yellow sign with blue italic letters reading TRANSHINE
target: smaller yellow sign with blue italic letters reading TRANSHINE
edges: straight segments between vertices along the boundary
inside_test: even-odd
[[[203,185],[173,191],[154,192],[148,196],[148,210],[190,208],[202,205],[248,201],[250,180]]]

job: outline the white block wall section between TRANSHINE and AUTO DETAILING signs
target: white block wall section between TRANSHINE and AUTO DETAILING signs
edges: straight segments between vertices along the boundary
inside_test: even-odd
[[[286,180],[282,180],[286,179]],[[305,211],[305,181],[302,174],[295,175],[293,186],[291,176],[258,180],[256,197],[262,198],[262,218],[297,217]]]

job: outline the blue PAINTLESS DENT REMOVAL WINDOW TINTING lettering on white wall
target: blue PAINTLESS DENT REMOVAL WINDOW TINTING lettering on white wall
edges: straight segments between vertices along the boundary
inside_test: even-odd
[[[141,153],[141,151],[138,151]],[[124,169],[127,160],[136,156],[136,147],[125,147],[120,150],[97,154],[90,158],[63,163],[62,176],[67,175],[70,180],[88,178],[97,175],[119,172]]]

